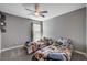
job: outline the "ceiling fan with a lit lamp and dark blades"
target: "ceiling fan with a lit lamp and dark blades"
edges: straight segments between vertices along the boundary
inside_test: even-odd
[[[35,17],[42,17],[42,18],[44,18],[45,17],[44,13],[47,13],[47,11],[41,11],[40,10],[40,4],[39,3],[35,3],[34,9],[35,9],[35,11],[25,8],[25,10],[31,11],[31,13],[29,15],[35,15]]]

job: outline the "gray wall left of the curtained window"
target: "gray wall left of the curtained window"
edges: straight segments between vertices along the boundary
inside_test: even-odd
[[[7,17],[7,32],[1,33],[1,50],[24,44],[31,36],[31,20],[10,14]]]

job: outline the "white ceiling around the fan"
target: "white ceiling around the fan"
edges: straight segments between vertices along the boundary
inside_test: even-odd
[[[6,13],[10,13],[13,15],[39,20],[39,21],[45,21],[47,19],[62,15],[64,13],[84,8],[84,3],[42,3],[40,4],[41,10],[46,10],[48,13],[45,14],[45,18],[42,17],[34,17],[34,15],[28,15],[30,11],[25,10],[25,7],[34,10],[34,3],[0,3],[0,11],[3,11]]]

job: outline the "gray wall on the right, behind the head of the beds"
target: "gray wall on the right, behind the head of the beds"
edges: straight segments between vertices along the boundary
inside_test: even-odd
[[[86,9],[79,9],[43,22],[43,35],[72,39],[75,48],[86,52]]]

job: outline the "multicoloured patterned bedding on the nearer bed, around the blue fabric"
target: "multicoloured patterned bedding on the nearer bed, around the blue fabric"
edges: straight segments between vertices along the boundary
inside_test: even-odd
[[[37,59],[45,59],[45,58],[47,58],[48,54],[51,54],[51,53],[62,53],[62,54],[64,54],[63,61],[69,61],[70,56],[72,56],[72,51],[73,51],[72,45],[69,45],[68,47],[66,47],[66,46],[57,46],[56,47],[56,46],[50,45],[50,46],[46,46],[44,48],[36,51],[34,53],[34,55]],[[40,55],[42,55],[42,56],[40,56]]]

